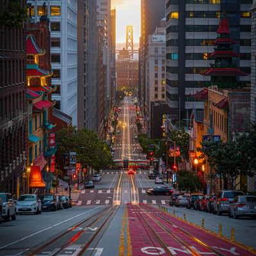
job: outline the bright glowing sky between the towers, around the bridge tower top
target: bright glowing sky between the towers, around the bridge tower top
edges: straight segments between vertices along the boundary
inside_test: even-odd
[[[127,25],[133,25],[133,41],[140,41],[140,0],[111,0],[116,9],[116,42],[125,42]]]

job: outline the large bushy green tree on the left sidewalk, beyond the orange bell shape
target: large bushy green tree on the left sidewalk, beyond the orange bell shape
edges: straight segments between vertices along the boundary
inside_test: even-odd
[[[63,154],[75,151],[77,163],[83,167],[92,166],[99,170],[108,168],[112,164],[112,156],[108,145],[99,140],[97,134],[87,129],[68,127],[56,134],[58,150],[56,159],[62,163]]]

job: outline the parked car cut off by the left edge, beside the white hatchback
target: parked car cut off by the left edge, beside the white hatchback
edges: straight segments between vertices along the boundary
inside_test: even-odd
[[[2,204],[2,218],[3,220],[16,220],[16,205],[10,193],[0,193]]]

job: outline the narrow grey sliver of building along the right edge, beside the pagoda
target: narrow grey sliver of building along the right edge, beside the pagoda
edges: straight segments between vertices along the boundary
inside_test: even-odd
[[[252,4],[252,74],[256,74],[256,1]],[[251,122],[256,123],[256,77],[251,76]]]

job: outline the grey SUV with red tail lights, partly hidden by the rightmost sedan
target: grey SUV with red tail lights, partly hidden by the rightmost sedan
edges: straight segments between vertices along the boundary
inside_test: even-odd
[[[243,195],[243,191],[240,190],[221,190],[213,203],[212,212],[218,215],[221,215],[224,212],[228,212],[230,202],[232,202],[236,196]]]

